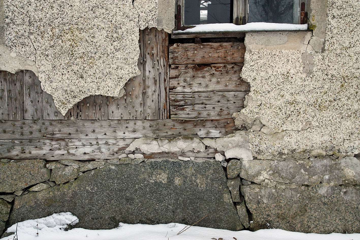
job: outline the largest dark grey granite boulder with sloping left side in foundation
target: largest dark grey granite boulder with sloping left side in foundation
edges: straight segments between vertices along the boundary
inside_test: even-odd
[[[71,212],[78,227],[109,229],[124,223],[170,223],[243,228],[221,163],[148,160],[106,164],[75,181],[18,196],[9,224]]]

